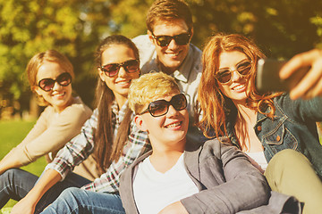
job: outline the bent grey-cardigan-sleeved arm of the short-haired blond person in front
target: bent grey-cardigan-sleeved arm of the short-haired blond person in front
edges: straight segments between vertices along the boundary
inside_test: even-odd
[[[208,141],[200,153],[200,165],[198,179],[206,189],[182,199],[189,213],[236,213],[268,202],[265,177],[234,146]]]

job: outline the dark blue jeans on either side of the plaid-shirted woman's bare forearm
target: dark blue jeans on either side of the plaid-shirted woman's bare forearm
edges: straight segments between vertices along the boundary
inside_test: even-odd
[[[0,175],[0,209],[13,199],[20,201],[32,187],[36,184],[38,177],[22,169],[8,169]],[[77,174],[70,173],[62,182],[58,182],[51,187],[39,200],[35,213],[39,213],[48,204],[55,201],[60,193],[68,187],[81,187],[89,184],[90,181],[85,177],[80,177]]]

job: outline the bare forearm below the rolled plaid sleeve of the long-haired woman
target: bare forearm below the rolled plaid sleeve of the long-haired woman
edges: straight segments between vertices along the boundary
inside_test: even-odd
[[[20,202],[17,202],[13,206],[11,213],[34,213],[35,207],[44,193],[46,193],[47,190],[55,185],[60,179],[60,174],[55,170],[48,169],[45,171],[42,177],[39,178],[38,183],[30,190],[30,192],[21,199]]]

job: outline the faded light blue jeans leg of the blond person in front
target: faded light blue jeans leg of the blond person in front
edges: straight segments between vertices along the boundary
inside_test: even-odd
[[[125,210],[119,194],[96,193],[71,187],[64,190],[55,202],[41,213],[124,214]]]

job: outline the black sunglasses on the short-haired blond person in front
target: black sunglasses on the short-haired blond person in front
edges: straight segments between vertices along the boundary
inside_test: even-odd
[[[183,94],[174,95],[170,101],[157,100],[148,104],[148,108],[140,114],[149,112],[153,117],[160,117],[169,111],[169,106],[174,106],[176,111],[181,111],[187,107],[187,98]]]

